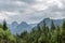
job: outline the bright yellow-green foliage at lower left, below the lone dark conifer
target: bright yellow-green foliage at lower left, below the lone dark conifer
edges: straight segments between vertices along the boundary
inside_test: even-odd
[[[8,29],[6,31],[4,31],[2,28],[0,28],[0,43],[4,43],[6,41],[8,42],[16,42],[15,41],[16,38],[11,34],[10,30]]]

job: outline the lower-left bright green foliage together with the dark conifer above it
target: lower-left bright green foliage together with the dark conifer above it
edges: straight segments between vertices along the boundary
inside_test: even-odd
[[[16,43],[16,38],[11,34],[5,22],[0,25],[0,43]]]

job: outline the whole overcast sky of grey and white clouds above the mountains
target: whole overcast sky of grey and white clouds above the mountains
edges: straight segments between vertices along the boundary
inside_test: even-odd
[[[0,0],[0,20],[39,23],[65,18],[65,0]]]

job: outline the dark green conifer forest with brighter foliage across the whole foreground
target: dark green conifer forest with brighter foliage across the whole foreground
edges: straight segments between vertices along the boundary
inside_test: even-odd
[[[51,27],[43,26],[32,28],[31,32],[24,31],[21,34],[12,34],[6,26],[6,22],[0,24],[0,43],[65,43],[65,20],[61,26],[55,26],[53,20]]]

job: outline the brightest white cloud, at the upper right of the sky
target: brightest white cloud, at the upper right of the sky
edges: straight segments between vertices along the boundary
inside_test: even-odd
[[[36,0],[36,3],[31,6],[37,11],[47,10],[49,6],[57,5],[58,8],[63,8],[62,0]]]

